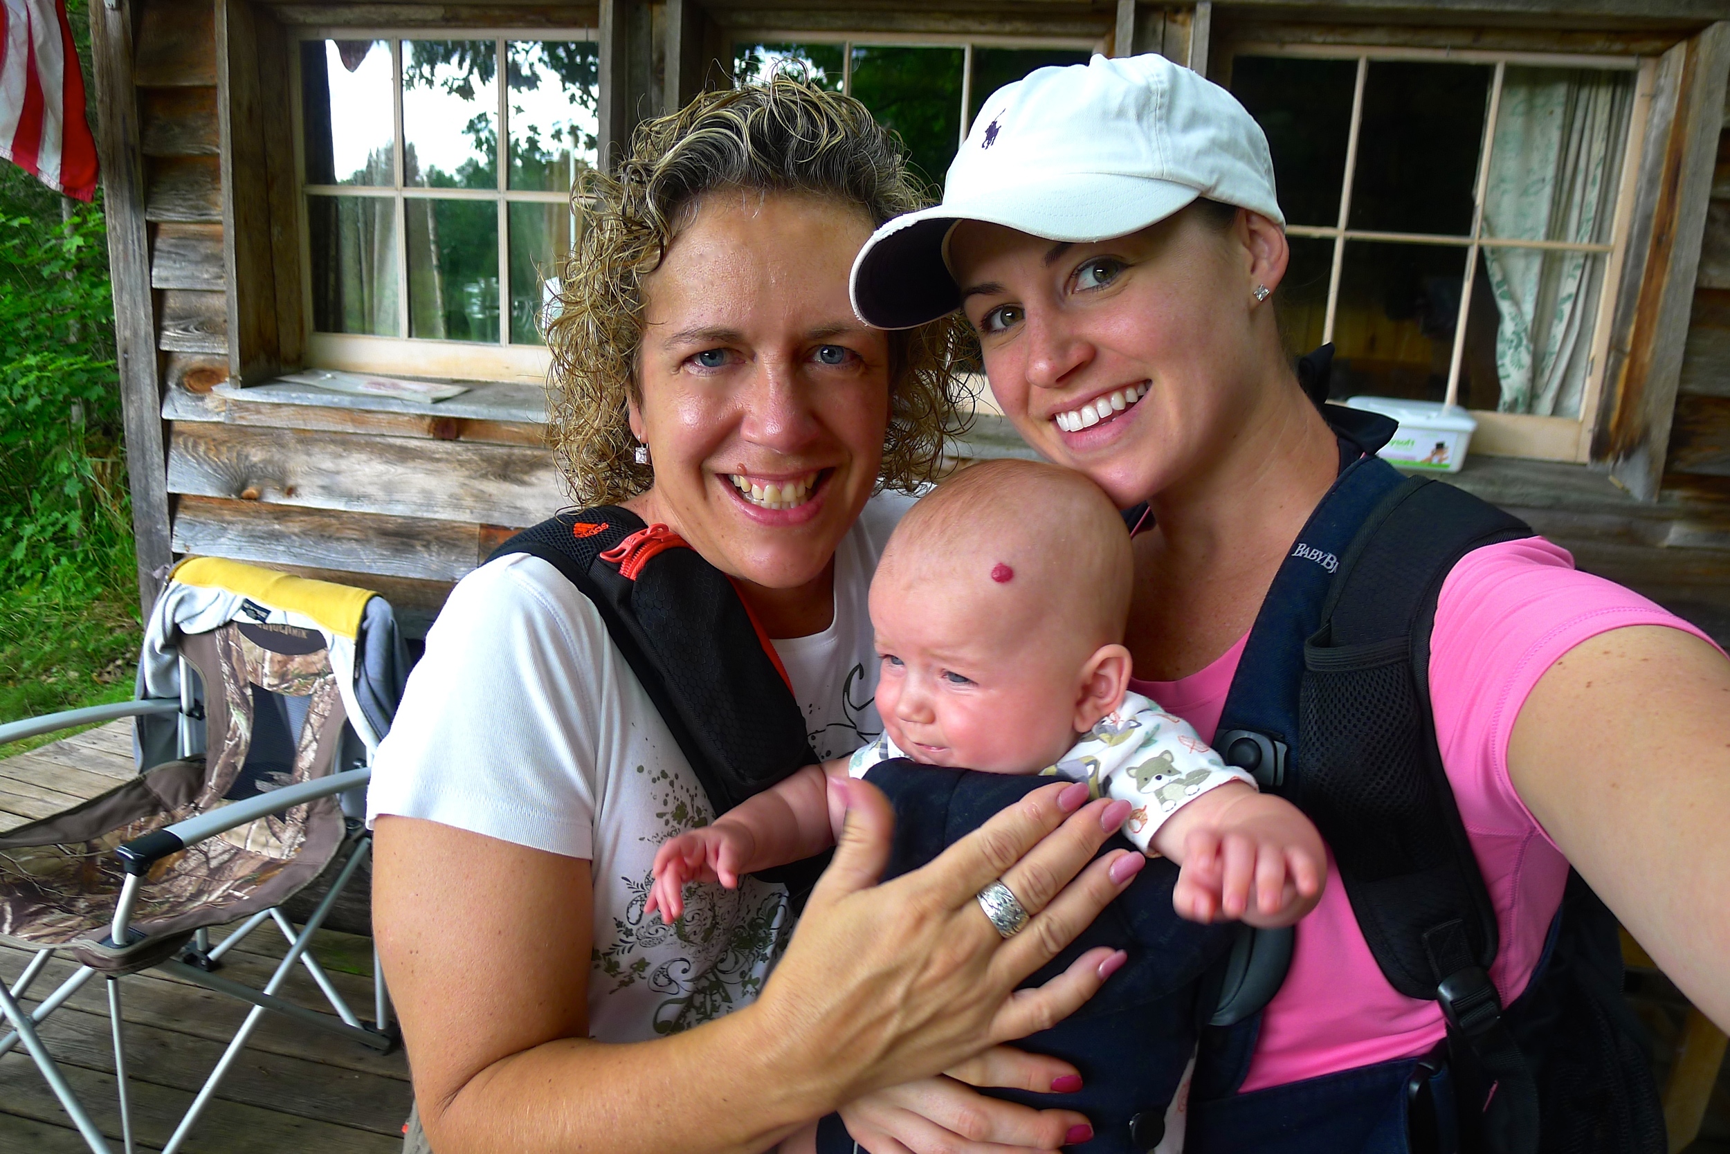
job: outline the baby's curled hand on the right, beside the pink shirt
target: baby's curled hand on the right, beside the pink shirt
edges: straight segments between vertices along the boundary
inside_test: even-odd
[[[1233,782],[1171,815],[1180,841],[1168,853],[1183,869],[1171,905],[1194,922],[1242,919],[1270,929],[1292,926],[1322,900],[1327,851],[1298,806]],[[1157,841],[1168,841],[1168,829]]]

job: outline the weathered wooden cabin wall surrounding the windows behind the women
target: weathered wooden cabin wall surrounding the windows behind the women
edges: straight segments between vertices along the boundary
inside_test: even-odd
[[[1406,16],[1422,22],[1427,7],[1408,7]],[[903,40],[981,29],[1052,35],[1088,38],[1118,54],[1157,50],[1204,69],[1221,21],[1270,14],[1289,16],[1268,3],[1135,0],[1033,2],[1009,12],[977,3],[770,9],[749,0],[599,7],[119,0],[118,9],[95,9],[145,600],[154,573],[173,557],[223,555],[375,588],[420,631],[460,576],[567,500],[535,386],[484,384],[426,407],[272,382],[303,365],[310,329],[289,109],[296,26],[453,35],[465,26],[597,29],[606,147],[628,138],[637,119],[704,85],[727,83],[732,40],[761,29]],[[1688,16],[1699,31],[1699,17],[1713,14],[1690,9]],[[1510,29],[1507,19],[1498,28],[1484,35],[1540,47],[1535,31]],[[1654,33],[1652,50],[1687,35]],[[631,59],[621,66],[619,54]],[[1730,116],[1720,128],[1725,123]],[[1730,637],[1730,133],[1720,137],[1718,156],[1656,500],[1626,497],[1602,472],[1512,458],[1474,457],[1458,483],[1574,550],[1581,567]],[[1659,415],[1668,422],[1669,410]],[[977,457],[1016,452],[1026,450],[991,419],[962,446],[962,455]]]

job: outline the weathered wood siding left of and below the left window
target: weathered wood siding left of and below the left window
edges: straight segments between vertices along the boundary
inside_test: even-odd
[[[304,336],[296,232],[272,227],[294,216],[277,21],[294,12],[133,3],[149,284],[131,287],[154,325],[171,550],[377,588],[424,628],[453,581],[566,503],[545,429],[521,391],[491,419],[484,394],[453,417],[232,388],[296,367]],[[225,196],[225,171],[246,187]]]

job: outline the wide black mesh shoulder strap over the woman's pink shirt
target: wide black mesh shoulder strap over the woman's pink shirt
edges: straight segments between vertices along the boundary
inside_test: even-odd
[[[1538,1095],[1488,978],[1495,907],[1436,746],[1429,635],[1460,557],[1529,535],[1451,484],[1413,478],[1382,498],[1304,644],[1294,792],[1382,974],[1441,1005],[1457,1069],[1477,1076],[1462,1107],[1483,1106],[1486,1149],[1505,1154],[1536,1149]]]

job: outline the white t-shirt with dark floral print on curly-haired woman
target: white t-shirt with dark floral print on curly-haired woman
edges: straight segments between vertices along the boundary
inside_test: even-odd
[[[836,548],[836,616],[775,642],[820,758],[882,723],[867,592],[912,498],[884,493]],[[538,557],[481,566],[452,592],[379,747],[367,822],[419,817],[592,863],[588,1031],[642,1042],[756,997],[792,929],[753,877],[694,886],[675,926],[644,917],[663,841],[714,818],[702,785],[583,593]],[[460,931],[458,931],[460,933]]]

